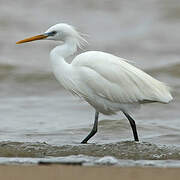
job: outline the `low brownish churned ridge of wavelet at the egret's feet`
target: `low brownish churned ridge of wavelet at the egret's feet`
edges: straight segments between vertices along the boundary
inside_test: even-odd
[[[0,142],[0,157],[58,158],[70,155],[113,156],[126,160],[180,160],[180,147],[133,141],[62,146],[52,146],[47,143]]]

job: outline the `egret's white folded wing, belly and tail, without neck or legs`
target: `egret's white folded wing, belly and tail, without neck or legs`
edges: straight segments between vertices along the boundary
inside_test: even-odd
[[[104,114],[129,112],[145,102],[172,100],[164,83],[111,54],[89,51],[78,55],[71,65],[78,68],[77,93]]]

